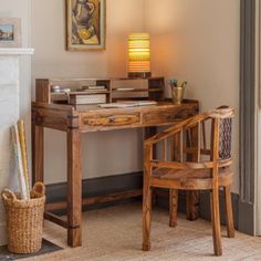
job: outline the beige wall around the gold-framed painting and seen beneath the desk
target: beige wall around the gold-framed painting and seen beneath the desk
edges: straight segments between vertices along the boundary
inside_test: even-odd
[[[126,75],[127,35],[144,30],[143,1],[107,0],[106,51],[64,50],[64,0],[32,1],[32,80],[36,77],[105,77]],[[84,136],[83,176],[100,177],[142,169],[139,130]],[[65,135],[46,133],[48,182],[65,180]]]

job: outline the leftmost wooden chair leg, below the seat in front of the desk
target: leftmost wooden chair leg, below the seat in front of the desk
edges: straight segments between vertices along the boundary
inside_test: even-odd
[[[144,186],[143,190],[143,251],[150,250],[152,227],[152,188]]]

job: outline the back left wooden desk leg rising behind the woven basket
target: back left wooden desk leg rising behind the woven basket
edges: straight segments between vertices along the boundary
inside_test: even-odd
[[[32,185],[43,182],[43,130],[32,121]]]

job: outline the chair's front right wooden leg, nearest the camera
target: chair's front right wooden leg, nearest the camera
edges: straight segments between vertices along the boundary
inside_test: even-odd
[[[212,238],[213,238],[213,251],[215,254],[222,255],[221,244],[221,228],[220,228],[220,213],[219,213],[219,189],[213,188],[211,196],[211,219],[212,219]]]

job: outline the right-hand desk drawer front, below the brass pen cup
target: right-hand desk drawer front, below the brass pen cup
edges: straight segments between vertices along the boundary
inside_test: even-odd
[[[157,124],[167,124],[174,123],[181,119],[189,118],[195,115],[195,109],[178,109],[178,108],[168,108],[163,111],[148,112],[143,115],[143,124],[147,125],[157,125]]]

